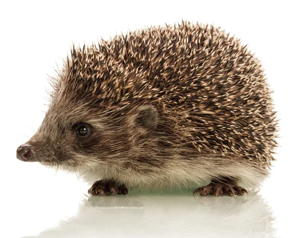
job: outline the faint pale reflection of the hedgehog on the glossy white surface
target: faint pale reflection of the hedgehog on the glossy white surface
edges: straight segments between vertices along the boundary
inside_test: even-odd
[[[272,222],[257,194],[86,197],[77,216],[26,237],[274,237]]]

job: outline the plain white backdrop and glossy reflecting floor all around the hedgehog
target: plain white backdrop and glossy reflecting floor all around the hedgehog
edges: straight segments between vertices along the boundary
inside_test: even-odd
[[[47,110],[47,75],[71,43],[182,19],[242,39],[266,69],[280,147],[259,195],[86,197],[73,174],[16,159]],[[301,237],[301,6],[299,1],[10,1],[0,6],[1,237]]]

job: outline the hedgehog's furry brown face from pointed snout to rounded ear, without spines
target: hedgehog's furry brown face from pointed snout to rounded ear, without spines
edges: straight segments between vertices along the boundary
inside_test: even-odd
[[[18,148],[17,158],[69,171],[82,166],[112,168],[127,163],[130,141],[147,138],[156,126],[157,111],[150,105],[124,116],[88,104],[51,105],[36,134]]]

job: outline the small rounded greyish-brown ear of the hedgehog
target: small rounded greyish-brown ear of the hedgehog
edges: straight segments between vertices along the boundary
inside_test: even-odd
[[[137,108],[134,122],[137,126],[153,130],[158,124],[157,109],[153,105],[142,105]]]

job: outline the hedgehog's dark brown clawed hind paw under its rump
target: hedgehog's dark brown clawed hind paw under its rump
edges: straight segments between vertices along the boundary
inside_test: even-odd
[[[230,196],[234,195],[243,196],[248,193],[244,188],[237,185],[234,178],[222,177],[219,180],[212,180],[207,186],[198,188],[194,191],[194,196],[199,194],[200,196],[215,195],[220,196]]]

